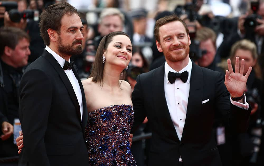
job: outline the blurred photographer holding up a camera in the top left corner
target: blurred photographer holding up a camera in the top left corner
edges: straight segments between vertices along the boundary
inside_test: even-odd
[[[20,28],[27,32],[31,38],[29,63],[35,61],[45,47],[44,41],[40,37],[39,15],[45,7],[52,3],[54,3],[52,0],[30,0],[29,9],[27,9],[26,0],[18,0],[17,3],[15,1],[0,2],[0,19],[2,11],[4,12],[4,27]]]

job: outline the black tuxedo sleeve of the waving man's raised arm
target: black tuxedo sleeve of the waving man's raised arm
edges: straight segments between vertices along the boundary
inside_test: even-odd
[[[231,127],[235,133],[246,132],[251,108],[245,110],[231,104],[230,94],[224,80],[220,78],[220,73],[216,80],[216,106],[223,116],[225,126]]]

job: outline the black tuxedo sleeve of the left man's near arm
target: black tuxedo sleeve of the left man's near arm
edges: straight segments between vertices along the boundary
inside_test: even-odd
[[[22,151],[25,150],[30,165],[50,165],[44,136],[51,98],[51,81],[45,72],[39,69],[26,71],[20,84],[19,118],[23,131]]]

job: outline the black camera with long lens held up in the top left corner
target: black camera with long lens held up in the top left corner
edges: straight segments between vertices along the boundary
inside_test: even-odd
[[[37,10],[26,9],[23,12],[19,12],[17,9],[11,9],[9,12],[9,18],[12,22],[20,22],[20,19],[34,19],[38,21],[39,12]]]

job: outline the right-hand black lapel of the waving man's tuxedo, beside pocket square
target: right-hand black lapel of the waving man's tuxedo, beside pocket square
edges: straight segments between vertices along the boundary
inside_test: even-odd
[[[184,140],[186,131],[192,127],[191,116],[194,111],[200,110],[203,95],[203,74],[202,69],[192,61],[192,71],[190,80],[190,92],[187,105],[187,113],[185,124],[182,132],[182,139]]]

